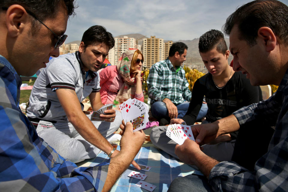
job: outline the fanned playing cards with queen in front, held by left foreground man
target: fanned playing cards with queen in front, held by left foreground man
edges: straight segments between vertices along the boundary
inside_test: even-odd
[[[144,102],[137,99],[128,99],[119,108],[125,124],[127,122],[132,123],[133,132],[146,128],[149,115]]]

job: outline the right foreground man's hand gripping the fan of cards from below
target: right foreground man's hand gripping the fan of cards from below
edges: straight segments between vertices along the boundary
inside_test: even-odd
[[[186,164],[195,165],[196,155],[203,153],[199,145],[190,139],[186,139],[182,145],[176,145],[175,154]]]

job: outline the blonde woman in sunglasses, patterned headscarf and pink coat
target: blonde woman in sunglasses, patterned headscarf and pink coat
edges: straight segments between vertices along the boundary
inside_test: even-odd
[[[144,101],[141,81],[143,54],[138,49],[127,49],[117,65],[107,66],[100,72],[100,95],[103,104],[114,100],[123,103],[129,98]]]

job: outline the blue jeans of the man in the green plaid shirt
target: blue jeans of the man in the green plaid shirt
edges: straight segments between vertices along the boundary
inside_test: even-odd
[[[178,117],[179,119],[182,119],[182,117],[187,113],[189,102],[184,102],[179,105],[176,105],[178,110]],[[207,113],[208,107],[207,104],[202,104],[202,107],[199,111],[199,114],[196,118],[196,121],[201,120]],[[168,110],[166,107],[166,104],[162,101],[156,101],[151,105],[151,113],[152,116],[158,120],[164,118],[164,119],[170,119],[168,116]]]

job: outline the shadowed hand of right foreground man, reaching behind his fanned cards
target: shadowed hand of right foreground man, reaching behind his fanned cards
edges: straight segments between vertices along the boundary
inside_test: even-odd
[[[214,123],[194,125],[191,127],[196,143],[204,145],[218,136],[218,126]]]

